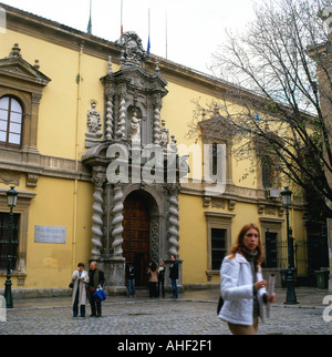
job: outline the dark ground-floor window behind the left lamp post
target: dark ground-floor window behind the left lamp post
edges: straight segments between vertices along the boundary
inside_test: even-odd
[[[19,248],[19,225],[20,214],[13,214],[12,224],[12,244],[11,244],[11,269],[14,271],[18,259]],[[7,271],[9,256],[9,234],[10,234],[10,215],[0,213],[0,271]]]

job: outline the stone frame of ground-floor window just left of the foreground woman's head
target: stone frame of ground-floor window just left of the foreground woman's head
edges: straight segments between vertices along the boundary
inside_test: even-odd
[[[211,228],[226,230],[226,249],[229,251],[231,246],[231,224],[232,218],[236,216],[234,213],[226,212],[210,212],[207,211],[204,213],[206,217],[206,226],[207,226],[207,257],[208,257],[208,266],[207,266],[207,278],[208,282],[211,280],[212,275],[219,275],[219,269],[212,269],[212,254],[211,254]]]

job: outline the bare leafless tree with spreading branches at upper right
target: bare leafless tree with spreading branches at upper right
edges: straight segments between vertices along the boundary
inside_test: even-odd
[[[194,119],[190,134],[219,141],[231,134],[243,142],[238,157],[257,157],[262,165],[268,160],[289,181],[319,197],[321,213],[332,216],[328,204],[332,121],[326,110],[332,108],[332,78],[325,53],[331,48],[322,18],[328,2],[266,1],[255,7],[256,19],[245,33],[227,31],[228,41],[212,63],[222,83],[220,101],[197,102],[197,113],[212,114],[209,120]],[[324,73],[324,91],[318,69]]]

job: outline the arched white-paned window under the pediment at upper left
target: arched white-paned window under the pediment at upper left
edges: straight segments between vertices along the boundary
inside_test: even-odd
[[[14,98],[0,99],[0,144],[21,146],[22,118],[22,106]]]

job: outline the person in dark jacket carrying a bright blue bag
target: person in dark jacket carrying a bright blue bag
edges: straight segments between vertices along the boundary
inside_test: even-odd
[[[105,283],[105,277],[103,271],[98,269],[96,262],[90,263],[89,271],[89,295],[90,295],[90,306],[91,306],[91,317],[102,316],[102,302],[97,300],[93,294],[98,287],[103,287]]]

